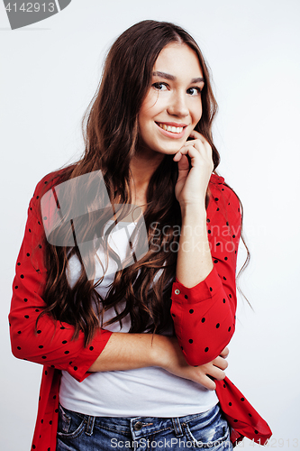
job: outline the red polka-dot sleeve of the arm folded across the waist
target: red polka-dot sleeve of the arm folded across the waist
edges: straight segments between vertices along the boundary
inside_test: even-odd
[[[84,334],[71,340],[74,327],[54,321],[49,315],[36,319],[45,307],[42,299],[47,271],[44,263],[44,230],[37,206],[41,181],[35,189],[28,209],[23,244],[16,263],[13,298],[9,314],[12,351],[15,357],[68,371],[78,382],[105,348],[111,332],[100,329],[85,347]]]

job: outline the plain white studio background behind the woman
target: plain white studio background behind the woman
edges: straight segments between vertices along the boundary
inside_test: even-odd
[[[244,206],[251,262],[241,288],[255,310],[239,299],[226,373],[268,421],[272,447],[300,449],[300,1],[73,0],[15,31],[2,2],[0,14],[1,449],[31,448],[41,380],[40,365],[11,354],[8,335],[28,203],[42,176],[82,152],[80,121],[105,52],[143,19],[186,28],[212,69],[219,171]]]

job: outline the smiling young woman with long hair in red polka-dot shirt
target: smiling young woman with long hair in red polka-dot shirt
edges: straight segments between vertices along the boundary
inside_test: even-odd
[[[182,28],[143,21],[114,42],[86,152],[37,185],[16,263],[13,353],[44,365],[32,449],[270,437],[224,373],[241,205],[215,171],[216,108]]]

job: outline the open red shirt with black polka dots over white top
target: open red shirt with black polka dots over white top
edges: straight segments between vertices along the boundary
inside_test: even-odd
[[[41,317],[35,332],[36,319],[45,306],[42,294],[47,271],[39,198],[48,179],[50,176],[37,185],[29,205],[23,244],[16,262],[9,314],[14,356],[43,365],[32,439],[32,449],[37,451],[56,449],[61,371],[67,371],[78,382],[83,381],[111,336],[111,332],[101,329],[85,347],[83,333],[77,340],[71,340],[74,327],[55,322],[48,315]],[[205,281],[193,288],[188,289],[175,280],[171,296],[171,315],[177,339],[186,362],[191,365],[211,362],[228,345],[235,327],[240,204],[232,190],[224,184],[223,177],[212,174],[209,188],[212,197],[207,208],[207,235],[214,269]],[[227,377],[214,382],[221,409],[231,427],[232,443],[236,445],[243,437],[249,437],[264,444],[272,434],[266,421]]]

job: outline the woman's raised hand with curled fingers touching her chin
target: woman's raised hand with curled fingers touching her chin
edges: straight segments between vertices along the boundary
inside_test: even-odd
[[[173,161],[178,162],[175,195],[180,207],[205,206],[206,189],[214,170],[212,147],[205,137],[195,130],[190,133],[190,137],[194,139],[186,141],[173,158]],[[186,155],[190,157],[191,169]]]

